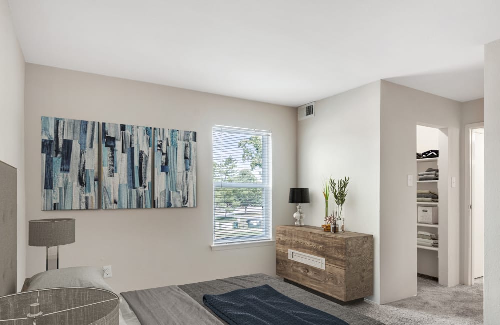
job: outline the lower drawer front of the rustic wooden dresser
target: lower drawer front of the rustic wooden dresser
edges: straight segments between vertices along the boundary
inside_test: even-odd
[[[345,300],[345,269],[326,264],[322,270],[288,259],[288,253],[276,251],[276,274],[335,299]]]

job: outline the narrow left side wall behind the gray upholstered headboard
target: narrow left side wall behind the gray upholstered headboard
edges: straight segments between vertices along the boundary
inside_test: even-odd
[[[24,55],[7,0],[0,0],[0,160],[17,168],[17,290],[26,275]]]

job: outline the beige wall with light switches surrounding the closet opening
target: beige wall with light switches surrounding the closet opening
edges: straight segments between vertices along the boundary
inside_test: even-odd
[[[460,103],[400,86],[381,83],[380,136],[380,302],[416,295],[416,125],[448,127],[448,172],[457,178],[449,188],[448,238],[441,236],[439,258],[448,260],[448,285],[459,282],[459,130]],[[413,186],[407,186],[407,175]],[[441,221],[441,220],[440,220]],[[440,226],[446,226],[441,224]],[[441,241],[442,240],[442,241]],[[451,247],[446,254],[445,247]],[[441,277],[441,274],[440,274]]]

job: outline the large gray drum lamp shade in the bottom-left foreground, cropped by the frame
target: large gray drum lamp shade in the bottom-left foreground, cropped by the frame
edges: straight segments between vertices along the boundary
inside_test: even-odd
[[[36,303],[39,306],[31,307]],[[31,325],[32,315],[36,316],[39,325],[118,325],[119,297],[110,291],[82,287],[43,289],[0,297],[0,324]]]

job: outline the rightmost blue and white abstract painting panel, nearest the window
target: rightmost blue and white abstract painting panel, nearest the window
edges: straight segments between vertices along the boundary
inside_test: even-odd
[[[196,206],[196,132],[154,129],[154,207]]]

